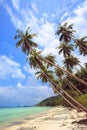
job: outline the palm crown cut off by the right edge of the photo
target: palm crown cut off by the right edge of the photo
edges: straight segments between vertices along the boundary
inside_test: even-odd
[[[87,36],[74,40],[76,48],[78,47],[80,54],[84,56],[87,55],[87,40],[85,39],[87,39]]]

